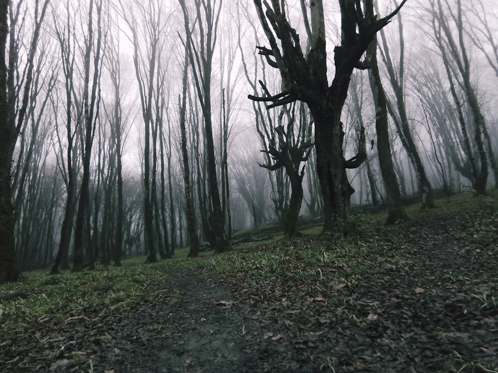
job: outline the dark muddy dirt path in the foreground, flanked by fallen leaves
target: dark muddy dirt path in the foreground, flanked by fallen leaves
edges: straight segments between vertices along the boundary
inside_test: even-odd
[[[98,371],[254,372],[260,363],[247,343],[255,328],[245,317],[249,306],[212,279],[168,275],[178,296],[139,307],[132,328],[121,323],[112,343],[118,353],[99,356]]]

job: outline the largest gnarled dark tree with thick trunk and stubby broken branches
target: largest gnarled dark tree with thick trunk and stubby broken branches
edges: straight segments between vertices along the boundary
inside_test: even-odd
[[[261,0],[254,0],[259,20],[270,44],[270,48],[257,48],[259,53],[266,57],[267,63],[280,71],[284,90],[274,95],[249,98],[271,102],[268,107],[295,100],[308,104],[315,125],[317,172],[324,200],[324,233],[346,233],[349,201],[354,192],[347,180],[346,169],[358,167],[365,158],[363,154],[350,160],[344,158],[341,113],[351,74],[375,33],[389,22],[405,2],[406,0],[386,17],[376,19],[365,16],[360,1],[339,0],[341,45],[334,49],[336,69],[329,86],[323,2],[315,0],[311,1],[309,8],[304,4],[302,6],[305,10],[304,19],[310,45],[309,51],[304,53],[299,35],[286,16],[284,2],[264,2],[263,8]],[[372,3],[372,0],[365,1],[366,8],[369,3]],[[359,149],[362,150],[363,146],[359,146]]]

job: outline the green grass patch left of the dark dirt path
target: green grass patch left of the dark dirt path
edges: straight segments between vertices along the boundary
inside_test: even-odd
[[[151,289],[150,284],[160,280],[163,273],[153,267],[139,266],[43,275],[43,272],[27,273],[24,280],[1,287],[2,292],[22,289],[32,295],[2,302],[0,340],[27,333],[46,321],[63,323],[98,314],[110,306],[129,308],[150,301],[159,290]]]

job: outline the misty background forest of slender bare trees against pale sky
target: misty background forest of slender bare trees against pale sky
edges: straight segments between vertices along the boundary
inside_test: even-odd
[[[347,35],[345,3],[323,2],[330,81]],[[378,1],[375,13],[398,5]],[[11,168],[1,178],[10,180],[19,269],[57,273],[73,261],[79,271],[137,254],[154,262],[188,245],[196,256],[200,241],[221,252],[235,231],[278,221],[293,237],[298,215],[323,214],[316,115],[286,91],[285,54],[280,61],[268,41],[268,30],[285,37],[285,17],[308,58],[309,8],[307,0],[5,5],[0,140]],[[497,184],[497,28],[493,0],[424,0],[407,1],[379,30],[340,116],[352,205],[386,205],[396,222],[402,198],[430,207],[435,192],[483,194]],[[1,226],[3,235],[4,218]],[[1,241],[8,266],[6,233]]]

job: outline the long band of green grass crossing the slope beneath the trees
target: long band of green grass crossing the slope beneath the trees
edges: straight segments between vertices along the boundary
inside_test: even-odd
[[[188,269],[196,272],[240,274],[246,286],[257,287],[258,279],[286,281],[287,291],[294,283],[304,283],[299,291],[317,295],[322,284],[353,285],[365,276],[375,276],[389,268],[404,266],[404,253],[411,250],[399,237],[410,229],[421,229],[427,221],[444,219],[450,233],[471,235],[482,247],[495,247],[498,236],[497,191],[476,197],[470,192],[453,196],[450,203],[437,201],[435,209],[418,211],[419,206],[407,207],[411,221],[385,227],[385,213],[363,214],[352,218],[357,227],[344,239],[320,241],[319,229],[303,233],[303,238],[282,240],[272,238],[257,245],[243,245],[230,253],[187,259],[188,249],[175,252],[175,258],[157,264],[144,265],[143,257],[123,260],[123,267],[100,268],[92,272],[63,272],[46,276],[46,271],[25,273],[24,280],[0,286],[1,293],[29,290],[26,299],[0,304],[0,340],[9,335],[24,334],[45,322],[64,323],[74,318],[98,315],[108,307],[133,307],[153,301],[172,289],[162,288],[165,268]],[[493,246],[494,245],[494,246]],[[484,307],[496,307],[493,294],[478,294]]]

